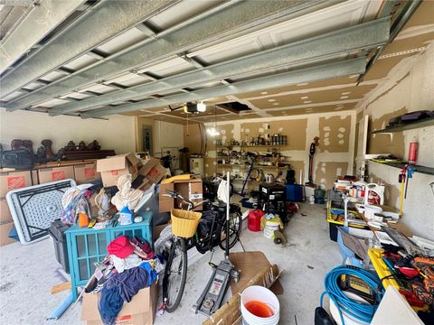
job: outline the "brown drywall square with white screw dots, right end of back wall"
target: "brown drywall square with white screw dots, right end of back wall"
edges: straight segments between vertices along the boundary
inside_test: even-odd
[[[351,116],[319,119],[319,150],[323,153],[347,153],[350,145]]]

